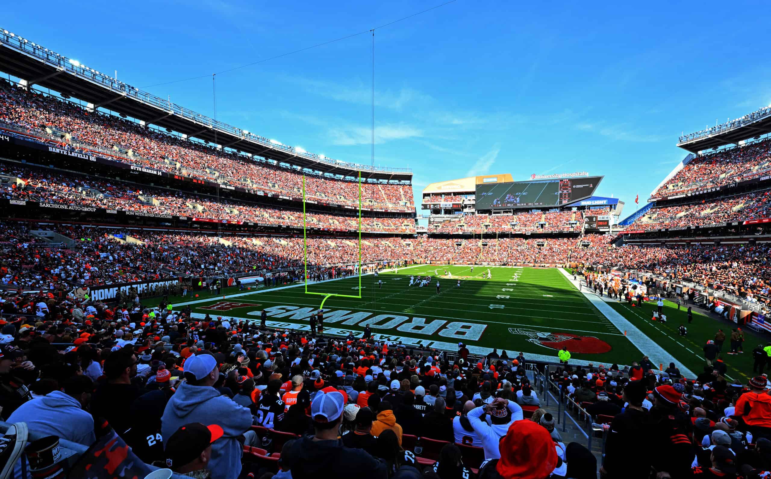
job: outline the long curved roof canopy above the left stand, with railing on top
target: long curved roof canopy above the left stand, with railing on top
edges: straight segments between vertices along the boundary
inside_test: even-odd
[[[412,180],[409,168],[372,167],[370,165],[333,160],[324,155],[308,153],[275,140],[260,137],[246,130],[214,120],[143,92],[106,76],[103,73],[68,59],[56,52],[0,29],[0,69],[22,79],[28,87],[39,85],[62,95],[72,96],[122,115],[196,137],[223,148],[319,170],[328,174],[358,176],[379,180]]]

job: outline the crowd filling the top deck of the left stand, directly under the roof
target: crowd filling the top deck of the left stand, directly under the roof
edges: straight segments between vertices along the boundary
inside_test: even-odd
[[[120,116],[88,111],[76,103],[28,92],[5,80],[0,85],[0,122],[46,138],[51,137],[46,128],[69,133],[72,138],[56,133],[52,138],[71,147],[107,151],[121,161],[170,173],[293,196],[302,188],[303,175],[288,168],[183,140]],[[123,152],[130,154],[119,154]],[[358,205],[359,183],[306,174],[305,194],[317,200]],[[364,204],[414,205],[409,184],[366,183],[362,184],[361,194]]]

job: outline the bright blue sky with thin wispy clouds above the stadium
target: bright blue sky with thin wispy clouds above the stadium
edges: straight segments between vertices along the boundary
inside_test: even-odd
[[[206,75],[362,32],[436,2],[4,5],[0,27],[213,114]],[[43,14],[42,12],[48,12]],[[762,14],[753,14],[762,12]],[[375,32],[375,163],[426,184],[587,170],[647,199],[678,135],[771,103],[765,2],[472,2]],[[369,164],[369,34],[217,76],[217,118]],[[642,204],[642,202],[641,202]],[[420,211],[419,211],[420,213]]]

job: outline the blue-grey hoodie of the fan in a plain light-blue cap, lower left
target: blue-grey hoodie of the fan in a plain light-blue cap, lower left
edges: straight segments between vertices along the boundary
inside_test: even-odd
[[[217,424],[224,433],[211,445],[211,459],[207,467],[212,479],[235,479],[241,474],[243,452],[237,438],[249,430],[251,421],[251,412],[246,407],[221,396],[213,387],[190,386],[184,381],[163,410],[163,447],[166,447],[169,437],[187,423]]]

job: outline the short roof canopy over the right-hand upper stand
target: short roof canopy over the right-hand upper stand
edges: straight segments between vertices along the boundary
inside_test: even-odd
[[[699,153],[702,150],[711,150],[724,145],[739,144],[742,140],[759,137],[769,132],[771,132],[771,105],[722,125],[683,135],[678,139],[677,146],[691,153]]]

